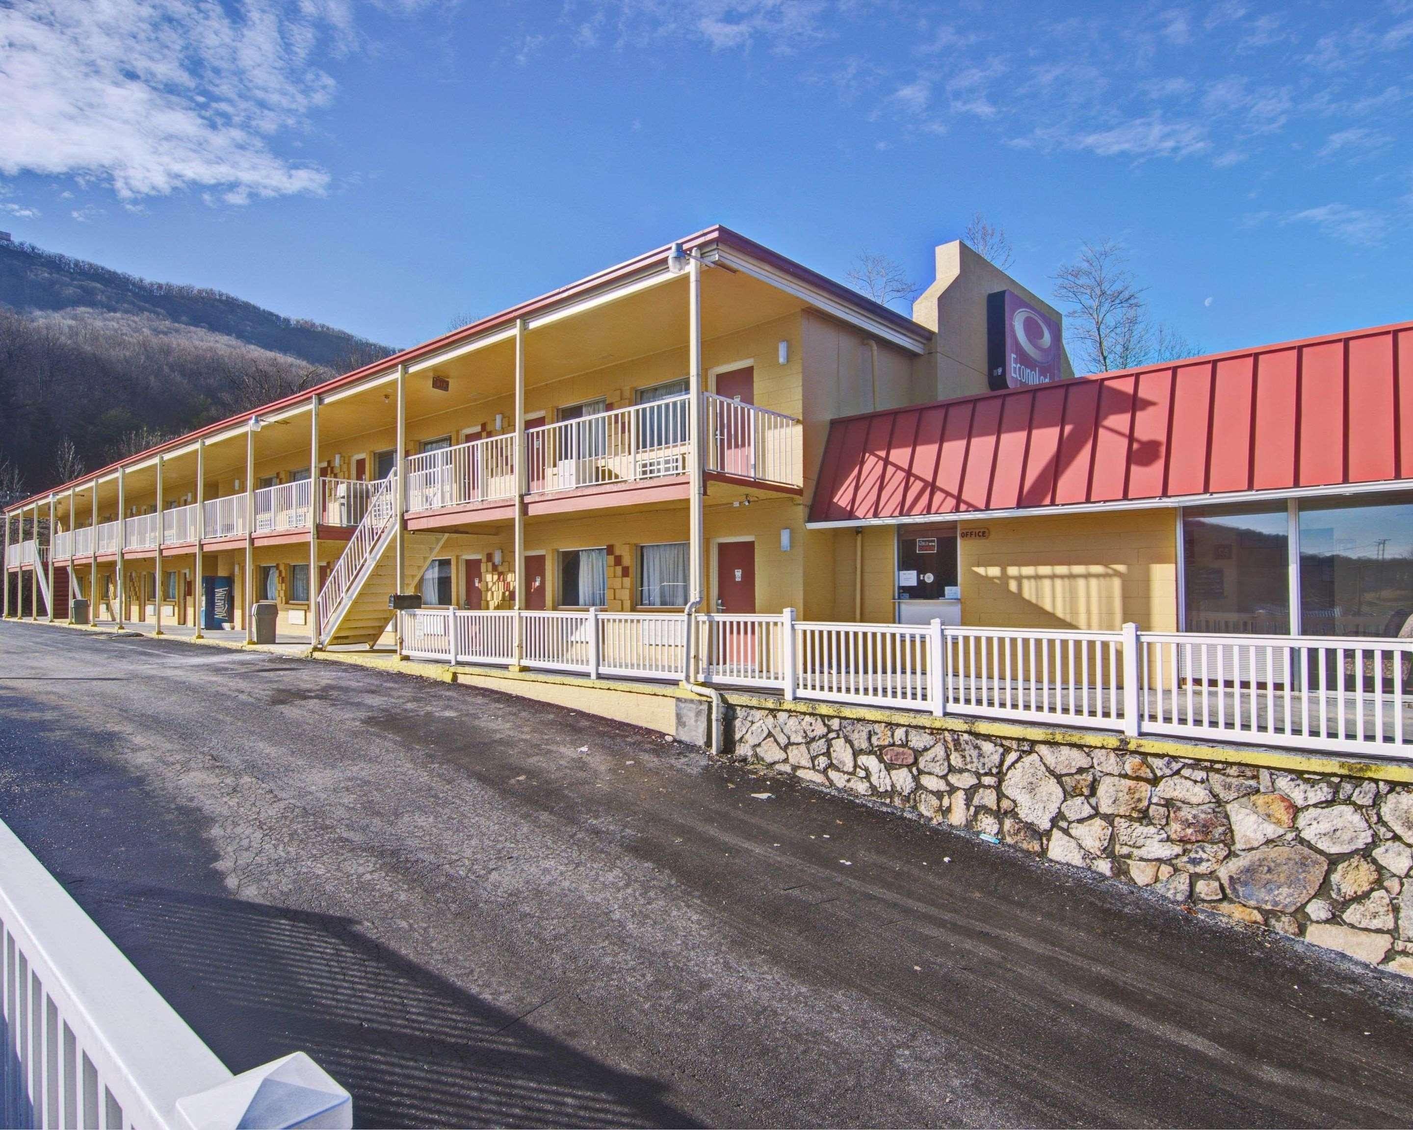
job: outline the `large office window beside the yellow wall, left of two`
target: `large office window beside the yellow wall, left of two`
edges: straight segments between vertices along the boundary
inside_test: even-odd
[[[1283,501],[1183,511],[1188,631],[1290,633],[1287,525]]]

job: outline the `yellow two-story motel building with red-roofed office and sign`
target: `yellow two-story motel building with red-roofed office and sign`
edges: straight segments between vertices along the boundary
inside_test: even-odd
[[[391,646],[398,592],[1413,634],[1413,323],[1082,380],[1060,335],[958,243],[909,318],[712,227],[10,507],[6,612],[72,592],[100,622],[249,636],[274,602],[315,647]],[[1390,660],[1338,664],[1373,686]]]

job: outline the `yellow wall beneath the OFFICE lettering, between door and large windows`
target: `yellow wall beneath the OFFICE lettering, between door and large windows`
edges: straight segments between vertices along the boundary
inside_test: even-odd
[[[965,523],[962,622],[985,627],[1177,630],[1171,510]]]

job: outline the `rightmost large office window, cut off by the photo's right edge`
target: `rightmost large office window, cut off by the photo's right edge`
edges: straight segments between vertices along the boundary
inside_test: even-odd
[[[1410,622],[1413,500],[1301,501],[1301,634],[1396,637]]]

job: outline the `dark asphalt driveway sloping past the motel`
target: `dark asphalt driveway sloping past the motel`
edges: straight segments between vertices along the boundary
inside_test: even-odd
[[[0,816],[363,1124],[1413,1123],[1413,982],[469,686],[4,623]]]

